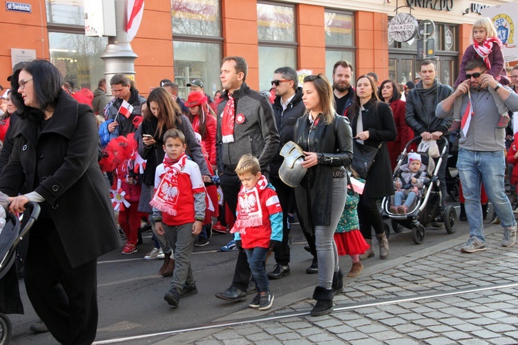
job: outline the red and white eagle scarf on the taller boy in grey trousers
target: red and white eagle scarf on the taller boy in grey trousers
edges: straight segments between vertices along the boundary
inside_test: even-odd
[[[178,199],[175,196],[180,193],[180,190],[178,190],[178,174],[185,166],[186,161],[185,153],[178,160],[170,159],[165,155],[163,161],[165,172],[160,175],[160,184],[149,203],[151,206],[169,215],[176,215],[178,204],[173,201]]]

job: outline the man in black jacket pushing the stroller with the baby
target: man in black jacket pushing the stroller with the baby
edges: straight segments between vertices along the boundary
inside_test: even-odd
[[[448,98],[453,93],[453,89],[448,85],[443,85],[437,80],[437,68],[430,60],[425,60],[419,67],[421,81],[416,87],[408,92],[406,98],[405,123],[414,130],[414,135],[421,136],[425,140],[437,140],[439,152],[443,150],[444,141],[439,140],[448,132],[452,124],[451,118],[439,119],[435,117],[435,108],[443,99]],[[439,159],[435,158],[437,164]],[[448,155],[445,155],[441,168],[439,169],[440,190],[442,194],[442,205],[445,205],[446,193],[446,164]]]

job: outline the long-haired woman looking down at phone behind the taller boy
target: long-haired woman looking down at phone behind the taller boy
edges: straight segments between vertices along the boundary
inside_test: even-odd
[[[191,122],[189,122],[185,115],[182,115],[180,106],[173,101],[173,97],[166,89],[154,88],[149,93],[142,124],[135,132],[139,155],[143,159],[147,159],[146,169],[142,178],[142,193],[138,210],[149,215],[153,213],[149,201],[151,201],[155,193],[155,170],[159,164],[162,164],[165,155],[162,148],[164,145],[164,133],[171,128],[178,128],[184,133],[187,152],[190,152],[189,156],[200,166],[200,171],[204,175],[204,181],[211,181],[210,172],[202,154],[202,148],[196,140]],[[153,223],[153,217],[149,218]],[[165,255],[164,264],[160,268],[159,273],[164,277],[170,277],[173,275],[175,263],[174,259],[170,259],[171,247],[166,243],[164,236],[156,233],[154,228],[153,226],[155,238],[160,242],[160,247]]]

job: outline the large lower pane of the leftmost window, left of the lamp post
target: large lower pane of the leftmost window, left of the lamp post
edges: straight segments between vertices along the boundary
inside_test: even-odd
[[[75,88],[95,90],[104,78],[104,61],[100,58],[108,44],[106,37],[49,32],[50,62],[61,72],[63,81]]]

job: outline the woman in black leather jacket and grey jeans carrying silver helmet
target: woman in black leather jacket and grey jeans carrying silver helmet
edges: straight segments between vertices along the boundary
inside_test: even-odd
[[[316,304],[311,315],[331,313],[333,295],[343,289],[334,230],[347,197],[346,166],[352,162],[352,132],[336,114],[333,89],[325,75],[304,78],[305,115],[297,120],[294,141],[303,149],[307,173],[295,188],[300,224],[314,233],[318,257]]]

